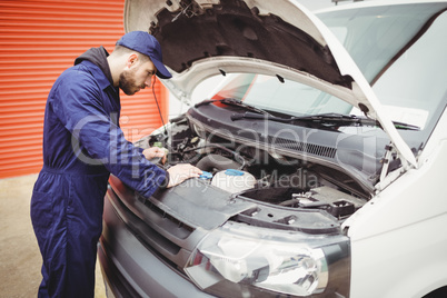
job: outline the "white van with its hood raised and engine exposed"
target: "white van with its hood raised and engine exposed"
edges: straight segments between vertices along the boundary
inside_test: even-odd
[[[205,173],[150,198],[110,178],[109,296],[447,297],[446,10],[127,0],[190,105],[138,145]]]

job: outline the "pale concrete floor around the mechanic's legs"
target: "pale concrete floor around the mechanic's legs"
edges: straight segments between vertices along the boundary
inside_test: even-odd
[[[30,218],[37,175],[0,179],[0,298],[37,297],[42,259]],[[105,298],[97,265],[96,298]]]

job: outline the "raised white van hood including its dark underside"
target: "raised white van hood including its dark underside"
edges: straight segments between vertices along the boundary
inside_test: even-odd
[[[348,52],[296,1],[126,0],[125,30],[149,31],[158,39],[172,73],[163,85],[180,99],[219,73],[254,72],[299,81],[377,119],[403,162],[417,167]]]

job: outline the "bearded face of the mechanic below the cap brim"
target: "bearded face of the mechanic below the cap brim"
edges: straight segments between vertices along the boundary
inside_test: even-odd
[[[119,88],[128,96],[132,96],[140,89],[150,87],[152,76],[156,73],[156,67],[152,61],[136,61],[125,69],[119,76]]]

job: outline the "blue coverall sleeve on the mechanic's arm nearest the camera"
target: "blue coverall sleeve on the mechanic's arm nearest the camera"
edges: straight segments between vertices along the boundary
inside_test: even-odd
[[[118,123],[118,111],[109,115],[102,91],[87,73],[68,76],[57,89],[54,112],[71,132],[78,159],[103,165],[109,172],[145,197],[168,183],[167,172],[148,161],[140,148],[127,141]]]

